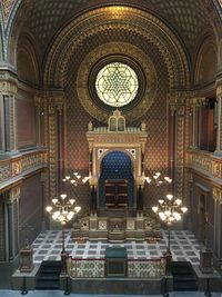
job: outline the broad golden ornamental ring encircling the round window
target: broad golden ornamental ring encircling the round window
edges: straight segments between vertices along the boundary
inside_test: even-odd
[[[105,120],[109,118],[110,112],[99,108],[93,103],[92,98],[89,93],[89,71],[90,69],[100,61],[104,56],[118,55],[124,58],[130,57],[135,60],[144,72],[144,80],[147,81],[143,96],[139,100],[138,105],[124,112],[128,120],[134,120],[143,116],[151,107],[157,91],[157,72],[152,61],[149,57],[135,46],[127,42],[110,42],[100,46],[92,50],[81,63],[78,77],[77,77],[77,91],[78,97],[83,108],[95,119]]]

